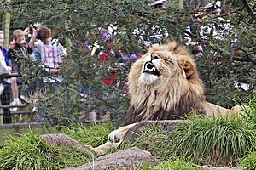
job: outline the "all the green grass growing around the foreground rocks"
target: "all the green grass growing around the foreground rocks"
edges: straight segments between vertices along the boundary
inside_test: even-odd
[[[164,131],[165,128],[160,126],[143,127],[134,143],[126,141],[119,150],[137,146],[160,160],[156,166],[145,163],[135,169],[201,169],[195,164],[217,167],[241,165],[244,169],[255,169],[255,100],[254,95],[249,102],[251,109],[232,119],[195,116],[171,132]],[[61,133],[80,144],[96,147],[107,140],[108,133],[113,129],[111,123],[94,123],[91,126],[74,124],[62,128]],[[0,169],[61,169],[91,161],[92,158],[84,151],[67,146],[49,146],[39,133],[31,131],[19,137],[10,136],[0,145]]]

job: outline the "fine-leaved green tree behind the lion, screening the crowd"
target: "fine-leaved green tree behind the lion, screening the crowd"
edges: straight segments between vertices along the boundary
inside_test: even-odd
[[[168,35],[149,38],[153,43],[177,41],[184,44],[184,34],[189,19],[193,19],[201,1],[184,1],[184,8],[177,3],[169,2],[166,12],[151,8],[149,0],[37,0],[4,2],[1,13],[10,12],[14,26],[25,28],[35,22],[43,23],[52,29],[54,35],[65,40],[67,47],[66,64],[62,67],[65,80],[57,87],[49,87],[47,93],[40,94],[37,106],[40,116],[55,124],[67,124],[71,119],[79,121],[79,112],[87,113],[96,110],[111,113],[113,120],[121,121],[129,105],[125,94],[125,82],[129,72],[129,63],[119,65],[114,61],[111,65],[119,75],[118,87],[106,87],[101,79],[106,76],[108,66],[98,62],[97,54],[90,55],[83,48],[73,48],[75,42],[89,33],[89,44],[103,46],[99,28],[113,29],[115,45],[123,54],[139,54],[146,51],[145,44],[132,33],[135,29],[143,29],[143,37],[150,37],[155,32]],[[253,1],[223,1],[224,18],[230,20],[232,36],[223,41],[204,40],[198,34],[189,33],[205,45],[203,56],[197,57],[198,70],[207,86],[207,100],[230,107],[239,97],[242,101],[255,89],[255,3]],[[216,18],[206,22],[216,23]],[[198,25],[198,28],[200,25]],[[153,29],[154,28],[154,29]],[[142,31],[141,31],[142,32]],[[236,35],[236,36],[235,36]],[[230,51],[230,42],[237,39],[236,48],[241,48],[241,56]],[[191,49],[190,47],[188,47]],[[23,76],[28,80],[44,77],[45,72],[38,68],[31,58],[23,60]],[[37,62],[37,61],[36,61]],[[117,64],[118,63],[118,64]],[[30,66],[27,66],[30,65]],[[250,89],[244,91],[234,88],[236,77],[242,77],[250,83]],[[79,102],[78,83],[83,87],[93,87],[96,94],[85,106]],[[102,99],[108,94],[108,99]],[[103,107],[102,107],[103,106]]]

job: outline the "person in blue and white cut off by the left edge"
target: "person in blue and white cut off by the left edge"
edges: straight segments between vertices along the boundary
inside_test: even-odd
[[[12,71],[12,62],[11,59],[7,58],[8,50],[3,48],[4,42],[4,32],[0,31],[0,62],[3,67],[5,67],[8,71]],[[1,71],[2,72],[2,71]],[[11,80],[10,79],[0,79],[1,84],[3,85],[2,94],[1,94],[1,103],[2,105],[9,105],[10,104],[10,96],[11,96]],[[9,108],[3,108],[3,123],[12,123],[11,112]]]

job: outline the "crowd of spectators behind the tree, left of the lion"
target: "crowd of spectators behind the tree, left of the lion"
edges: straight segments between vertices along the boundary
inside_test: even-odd
[[[1,48],[1,66],[8,72],[1,74],[17,73],[21,77],[11,77],[9,79],[0,79],[0,92],[1,88],[1,103],[2,105],[10,105],[10,107],[3,108],[3,123],[12,122],[12,112],[17,111],[20,105],[29,102],[31,95],[34,95],[38,88],[44,90],[44,87],[38,87],[40,82],[60,84],[63,80],[63,76],[59,74],[61,71],[61,65],[64,63],[64,56],[66,55],[66,48],[61,44],[59,39],[53,38],[51,31],[47,26],[41,26],[40,24],[34,24],[32,26],[33,31],[24,31],[18,29],[13,32],[13,40],[9,42],[9,49],[3,48],[4,33],[0,31],[0,48]],[[30,28],[31,29],[31,28]],[[112,59],[118,59],[119,62],[134,62],[137,59],[136,54],[123,55],[120,50],[114,47],[113,34],[108,29],[102,29],[101,37],[104,45],[97,48],[94,53],[98,54],[98,61],[102,65],[109,64]],[[30,33],[29,37],[27,34]],[[28,37],[28,38],[27,38]],[[83,46],[87,53],[92,53],[88,44],[88,38],[81,42],[76,43],[77,46]],[[32,56],[34,59],[40,59],[40,67],[44,71],[48,72],[47,77],[43,77],[42,80],[38,78],[36,82],[27,82],[26,78],[22,77],[20,59],[23,57]],[[2,68],[2,67],[1,67]],[[108,76],[102,78],[102,84],[106,86],[117,86],[118,74],[116,71],[108,71]],[[26,84],[26,88],[19,92],[19,86]],[[81,94],[90,94],[90,87],[86,87],[80,90]],[[21,95],[20,95],[21,94]],[[12,99],[11,99],[12,98]],[[96,119],[95,112],[90,113],[92,120]]]

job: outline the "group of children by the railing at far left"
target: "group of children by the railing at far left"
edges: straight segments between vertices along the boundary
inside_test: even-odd
[[[66,54],[65,48],[58,42],[58,39],[53,39],[51,31],[46,26],[40,24],[33,25],[34,30],[32,36],[26,41],[26,30],[20,29],[13,32],[13,40],[9,43],[9,49],[3,48],[4,33],[0,31],[0,48],[2,53],[1,68],[9,72],[18,73],[22,76],[20,69],[20,59],[22,57],[34,56],[34,59],[40,59],[41,65],[38,65],[44,71],[49,72],[49,77],[44,77],[42,82],[59,83],[63,79],[58,72],[63,63],[63,57]],[[32,55],[32,53],[34,53]],[[24,77],[11,77],[10,79],[1,78],[1,103],[2,105],[10,105],[3,108],[3,123],[12,122],[11,112],[17,111],[19,105],[28,101],[28,97],[34,94],[37,90],[38,82],[30,82],[26,84],[26,88],[19,92],[19,85],[27,83]],[[11,97],[13,101],[11,102]]]

